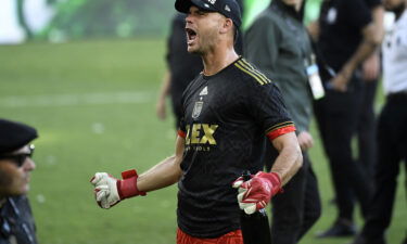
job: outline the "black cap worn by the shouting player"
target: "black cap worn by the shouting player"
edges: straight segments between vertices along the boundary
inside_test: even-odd
[[[236,0],[176,0],[175,9],[181,13],[188,13],[191,5],[198,9],[218,12],[233,21],[237,28],[242,24],[240,7]]]

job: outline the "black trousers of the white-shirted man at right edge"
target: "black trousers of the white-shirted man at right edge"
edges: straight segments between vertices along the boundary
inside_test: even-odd
[[[407,93],[389,97],[379,117],[376,190],[363,229],[369,239],[383,236],[390,226],[403,160],[407,171]]]

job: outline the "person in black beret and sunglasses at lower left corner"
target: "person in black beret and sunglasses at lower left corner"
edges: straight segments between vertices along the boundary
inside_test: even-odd
[[[0,244],[37,244],[26,196],[37,137],[33,127],[0,119]]]

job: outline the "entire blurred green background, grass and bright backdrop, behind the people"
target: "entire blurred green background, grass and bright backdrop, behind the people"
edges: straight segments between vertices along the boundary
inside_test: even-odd
[[[269,1],[244,4],[246,28]],[[306,22],[318,17],[319,4],[308,0]],[[174,152],[174,119],[155,116],[174,14],[168,0],[0,1],[0,117],[40,133],[29,193],[40,243],[175,243],[175,185],[103,210],[89,183],[96,171],[142,172]],[[380,94],[378,111],[382,104]],[[334,220],[335,208],[318,131],[311,132],[323,209],[302,243],[344,244],[314,237]],[[397,194],[392,244],[406,231],[403,187]]]

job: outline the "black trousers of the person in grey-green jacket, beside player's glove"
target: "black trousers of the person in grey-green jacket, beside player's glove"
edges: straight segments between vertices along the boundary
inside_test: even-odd
[[[321,214],[317,178],[304,154],[303,167],[272,198],[271,243],[295,244]]]

